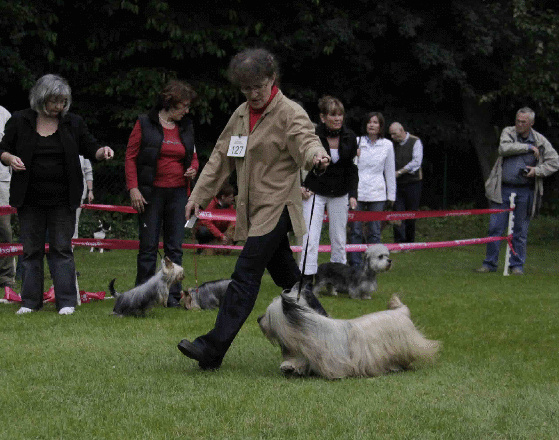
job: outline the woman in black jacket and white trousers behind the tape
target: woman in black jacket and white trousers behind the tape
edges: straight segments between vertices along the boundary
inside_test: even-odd
[[[306,225],[311,221],[312,212],[312,223],[303,237],[303,252],[299,264],[303,270],[303,262],[306,263],[303,275],[307,283],[312,283],[318,269],[318,247],[324,211],[328,210],[328,232],[332,247],[330,261],[345,264],[348,207],[357,207],[358,174],[353,162],[357,155],[357,140],[353,131],[344,125],[344,105],[335,97],[324,96],[318,101],[318,108],[320,123],[316,127],[316,134],[326,153],[332,158],[332,163],[322,174],[308,173],[303,182],[303,186],[314,194],[303,201]]]

